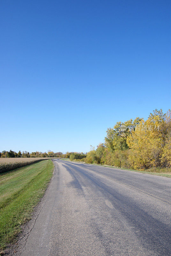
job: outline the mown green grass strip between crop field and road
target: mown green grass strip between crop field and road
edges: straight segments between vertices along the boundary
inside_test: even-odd
[[[54,165],[44,160],[0,174],[0,251],[31,217],[52,177]]]

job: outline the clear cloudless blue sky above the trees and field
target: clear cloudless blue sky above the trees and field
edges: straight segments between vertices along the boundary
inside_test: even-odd
[[[1,1],[0,151],[89,151],[171,108],[170,1]]]

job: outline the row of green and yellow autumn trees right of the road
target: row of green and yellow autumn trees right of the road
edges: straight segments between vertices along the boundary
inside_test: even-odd
[[[70,157],[71,159],[71,157]],[[81,161],[128,169],[171,167],[171,110],[155,109],[147,120],[137,117],[108,128],[105,143]]]

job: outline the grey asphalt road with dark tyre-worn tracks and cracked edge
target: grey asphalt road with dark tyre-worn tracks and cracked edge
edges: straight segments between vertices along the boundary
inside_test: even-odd
[[[14,255],[171,255],[171,179],[53,162],[54,176]]]

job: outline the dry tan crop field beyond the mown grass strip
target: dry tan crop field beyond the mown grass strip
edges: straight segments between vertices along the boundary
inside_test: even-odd
[[[0,158],[0,173],[56,157]]]

